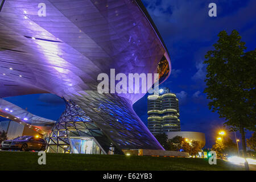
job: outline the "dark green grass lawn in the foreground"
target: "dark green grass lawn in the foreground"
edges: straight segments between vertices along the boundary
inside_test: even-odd
[[[38,164],[36,152],[0,152],[0,170],[243,170],[228,162],[208,159],[152,156],[46,154],[46,165]]]

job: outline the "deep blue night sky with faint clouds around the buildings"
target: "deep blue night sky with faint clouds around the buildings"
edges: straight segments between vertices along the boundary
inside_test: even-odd
[[[181,131],[205,133],[211,147],[224,123],[208,109],[203,93],[204,55],[217,42],[218,32],[234,29],[246,42],[247,51],[255,49],[256,1],[254,0],[142,0],[170,53],[171,76],[160,87],[168,87],[180,101]],[[217,17],[209,17],[209,3],[216,3]],[[33,114],[49,119],[60,117],[64,101],[52,94],[33,94],[5,98]],[[147,95],[134,104],[134,110],[147,124]],[[233,138],[234,134],[230,133]],[[240,134],[238,134],[240,138]],[[250,137],[251,133],[246,136]]]

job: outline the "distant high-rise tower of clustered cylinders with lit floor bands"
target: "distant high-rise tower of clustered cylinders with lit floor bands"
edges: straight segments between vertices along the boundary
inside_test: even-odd
[[[168,88],[159,89],[159,96],[147,97],[147,110],[148,129],[152,134],[180,131],[179,100]]]

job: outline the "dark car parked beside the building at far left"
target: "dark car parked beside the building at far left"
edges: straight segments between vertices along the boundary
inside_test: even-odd
[[[42,138],[33,136],[23,136],[13,140],[3,141],[0,148],[1,150],[44,151],[46,150],[46,141]]]

